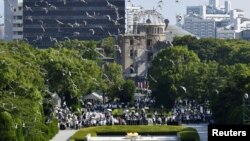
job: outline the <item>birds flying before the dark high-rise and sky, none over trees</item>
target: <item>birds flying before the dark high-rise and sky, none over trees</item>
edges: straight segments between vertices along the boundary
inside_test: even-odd
[[[7,1],[8,5],[9,5],[9,7],[11,8],[11,11],[12,11],[12,12],[16,11],[17,7],[14,7],[14,6],[13,6],[11,0],[6,0],[6,1]],[[131,0],[127,0],[127,1],[128,1],[128,2],[131,2]],[[61,0],[61,2],[62,2],[64,5],[67,4],[67,0]],[[88,1],[87,1],[87,0],[79,0],[79,2],[82,2],[84,5],[88,5]],[[179,3],[180,0],[175,0],[175,2],[176,2],[176,3]],[[46,0],[40,0],[39,2],[35,2],[34,5],[35,5],[35,7],[40,7],[40,6],[42,5],[40,10],[41,10],[41,11],[44,11],[44,14],[48,14],[50,11],[54,11],[54,10],[57,10],[57,9],[58,9],[55,5],[52,5],[51,3],[49,3],[49,2],[46,1]],[[44,6],[44,5],[45,5],[45,6]],[[114,17],[112,17],[112,15],[109,15],[109,14],[106,14],[106,15],[103,15],[103,16],[104,16],[108,21],[113,22],[114,25],[116,25],[116,26],[120,25],[120,24],[119,24],[119,20],[124,19],[124,17],[121,17],[121,16],[119,15],[118,6],[112,4],[112,2],[110,2],[109,0],[106,0],[106,5],[107,5],[108,7],[110,7],[110,8],[112,8],[112,9],[115,10],[116,17],[114,18]],[[160,10],[162,9],[163,5],[164,5],[164,0],[158,0],[158,1],[157,1],[157,8],[159,8]],[[143,8],[143,7],[141,7],[141,8]],[[154,9],[154,8],[153,8],[153,9]],[[33,12],[33,9],[32,9],[31,7],[29,7],[29,6],[27,6],[27,5],[24,5],[24,10],[27,11],[27,12],[28,12],[28,11]],[[97,14],[95,13],[95,11],[93,11],[93,12],[91,11],[91,13],[88,12],[88,11],[85,11],[85,15],[86,15],[88,18],[90,18],[90,19],[96,19],[96,16],[97,16]],[[2,16],[0,16],[0,18],[1,18],[1,17],[2,17]],[[28,20],[31,21],[32,23],[33,23],[33,21],[34,21],[34,19],[33,19],[32,16],[27,16],[26,19],[28,19]],[[178,22],[180,22],[180,21],[182,20],[182,16],[178,14],[178,15],[176,15],[176,19],[177,19]],[[7,19],[7,18],[6,18],[5,20],[11,22],[10,19]],[[39,20],[38,22],[40,23],[40,28],[41,28],[42,32],[45,33],[45,32],[46,32],[46,24],[44,23],[43,20]],[[83,27],[83,26],[86,27],[86,26],[88,25],[87,20],[75,21],[75,23],[70,23],[70,22],[64,23],[64,22],[61,21],[60,19],[55,19],[55,22],[57,23],[57,29],[58,29],[57,31],[58,31],[58,32],[62,32],[62,26],[67,26],[67,27],[70,27],[70,28],[79,28],[79,27]],[[109,35],[109,36],[113,36],[113,35],[115,35],[115,34],[116,34],[116,35],[123,35],[123,34],[122,34],[122,30],[121,30],[120,28],[117,29],[117,32],[116,32],[116,33],[111,33],[111,32],[109,32],[109,31],[104,31],[104,27],[103,27],[102,25],[97,25],[95,28],[89,28],[89,29],[88,29],[89,34],[91,34],[91,35],[94,36],[94,35],[96,34],[97,28],[100,29],[102,32],[107,32],[107,35]],[[79,31],[75,31],[75,32],[72,33],[73,37],[78,37],[78,36],[80,36],[80,34],[81,34],[81,32],[79,32]],[[43,39],[43,36],[44,36],[44,35],[45,35],[45,34],[39,34],[39,35],[37,35],[37,38],[34,39],[33,42],[37,42],[37,41],[39,41],[39,40],[41,41],[41,40]],[[51,37],[51,36],[50,36],[49,39],[50,39],[51,42],[57,42],[57,39],[54,38],[54,37]],[[70,37],[69,37],[69,36],[65,36],[64,39],[70,40]],[[25,39],[24,39],[24,40],[25,40]],[[27,40],[27,39],[26,39],[26,40]]]

